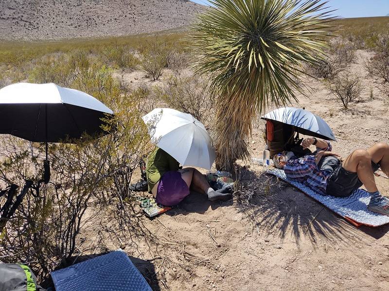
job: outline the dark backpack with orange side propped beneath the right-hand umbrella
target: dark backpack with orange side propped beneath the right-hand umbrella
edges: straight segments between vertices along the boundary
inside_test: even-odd
[[[312,152],[301,146],[302,138],[300,139],[299,132],[296,128],[279,121],[267,120],[265,125],[265,141],[270,151],[272,159],[278,153],[283,151],[292,151],[295,156],[303,157]]]

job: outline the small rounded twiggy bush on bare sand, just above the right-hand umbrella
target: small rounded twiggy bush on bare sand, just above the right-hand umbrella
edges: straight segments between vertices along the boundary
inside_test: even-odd
[[[351,76],[349,73],[336,77],[328,84],[331,94],[342,102],[345,110],[349,103],[357,101],[361,95],[361,83],[358,77]]]

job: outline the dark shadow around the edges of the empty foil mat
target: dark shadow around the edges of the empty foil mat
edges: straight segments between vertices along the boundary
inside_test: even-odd
[[[70,261],[74,261],[75,263],[80,263],[83,261],[86,261],[88,259],[93,259],[102,255],[106,255],[108,252],[99,253],[99,254],[91,254],[91,255],[83,255],[83,256],[74,256],[70,259]],[[138,269],[138,271],[141,273],[141,275],[144,277],[144,279],[147,281],[147,283],[150,285],[151,289],[153,291],[160,291],[159,287],[159,281],[157,278],[157,274],[155,272],[155,266],[154,264],[149,260],[139,259],[132,256],[128,256],[128,258],[131,260],[131,262],[135,265],[135,267]],[[55,268],[53,271],[60,270],[62,268],[66,268],[71,266],[72,264],[68,265],[61,265]],[[42,283],[43,288],[49,288],[51,287],[52,290],[54,289],[54,283],[51,276],[48,276],[44,282]]]

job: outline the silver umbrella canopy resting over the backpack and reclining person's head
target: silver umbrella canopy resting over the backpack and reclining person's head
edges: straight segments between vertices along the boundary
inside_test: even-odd
[[[328,124],[318,115],[304,109],[283,107],[267,113],[261,118],[288,124],[301,134],[336,141],[335,134]]]

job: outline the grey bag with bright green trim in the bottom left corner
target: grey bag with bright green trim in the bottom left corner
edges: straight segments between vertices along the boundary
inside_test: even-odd
[[[26,265],[0,264],[0,291],[45,291]]]

